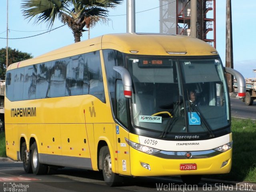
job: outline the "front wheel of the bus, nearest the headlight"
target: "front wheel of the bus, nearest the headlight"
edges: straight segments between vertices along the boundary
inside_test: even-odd
[[[122,182],[122,177],[112,172],[112,162],[108,146],[102,147],[100,154],[102,154],[102,173],[104,181],[108,186],[117,186]]]

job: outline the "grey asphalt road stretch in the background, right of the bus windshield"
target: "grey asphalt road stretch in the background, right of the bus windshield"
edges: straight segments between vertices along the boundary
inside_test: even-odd
[[[238,98],[230,98],[230,103],[232,117],[256,119],[256,100],[252,106],[247,106]]]

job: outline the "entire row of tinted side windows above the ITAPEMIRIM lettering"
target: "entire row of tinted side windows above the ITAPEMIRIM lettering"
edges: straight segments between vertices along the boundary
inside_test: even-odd
[[[11,101],[82,94],[106,102],[99,51],[8,71]]]

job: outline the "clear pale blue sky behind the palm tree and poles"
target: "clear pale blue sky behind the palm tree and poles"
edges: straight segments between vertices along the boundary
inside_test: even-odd
[[[1,0],[0,38],[6,38],[7,0]],[[232,0],[232,31],[234,69],[245,78],[256,78],[256,2],[255,0]],[[34,24],[34,20],[25,19],[20,8],[21,0],[8,0],[8,47],[27,52],[36,57],[51,50],[74,43],[74,36],[68,26],[51,32],[46,23]],[[135,0],[136,32],[158,33],[159,0]],[[109,9],[108,24],[98,23],[90,29],[90,38],[110,33],[126,32],[126,0],[114,9]],[[52,29],[63,24],[56,20]],[[30,38],[23,38],[34,36]],[[216,0],[216,49],[225,65],[226,49],[226,0]],[[10,38],[21,38],[12,40]],[[88,39],[88,32],[83,32],[81,40]],[[6,48],[6,39],[0,39],[0,48]]]

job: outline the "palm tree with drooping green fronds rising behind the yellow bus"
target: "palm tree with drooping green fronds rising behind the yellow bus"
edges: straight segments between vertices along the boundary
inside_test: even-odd
[[[75,42],[80,41],[85,26],[90,28],[98,21],[107,22],[108,8],[123,0],[24,0],[21,8],[25,18],[35,23],[46,22],[52,27],[57,17],[72,30]]]

